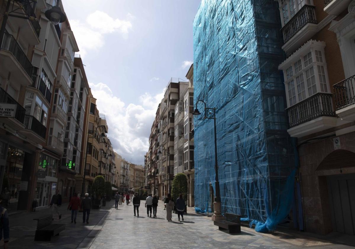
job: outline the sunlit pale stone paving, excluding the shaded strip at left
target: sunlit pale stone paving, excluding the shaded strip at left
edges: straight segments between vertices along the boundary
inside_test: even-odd
[[[219,231],[218,227],[213,225],[211,217],[195,214],[192,208],[189,208],[188,214],[184,216],[184,221],[179,222],[177,214],[173,214],[173,222],[168,222],[162,202],[159,202],[157,218],[147,217],[144,205],[140,207],[140,217],[133,216],[131,204],[119,206],[119,209],[111,209],[94,241],[80,244],[79,248],[354,249],[354,247],[326,241],[324,240],[326,237],[314,238],[306,233],[299,233],[298,236],[282,232],[261,234],[254,229],[242,227],[241,234],[230,235]],[[354,238],[350,236],[348,240]]]

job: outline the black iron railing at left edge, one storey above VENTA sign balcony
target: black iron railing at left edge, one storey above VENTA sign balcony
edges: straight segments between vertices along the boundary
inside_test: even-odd
[[[4,34],[4,39],[1,44],[1,49],[9,51],[16,58],[17,62],[21,65],[23,70],[26,71],[27,75],[31,78],[33,76],[34,67],[27,58],[26,54],[22,51],[20,45],[18,45],[15,38],[9,33]]]

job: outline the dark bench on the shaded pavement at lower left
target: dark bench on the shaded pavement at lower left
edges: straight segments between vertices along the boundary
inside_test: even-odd
[[[52,236],[59,235],[65,229],[65,224],[52,224],[52,215],[41,216],[33,220],[37,221],[34,241],[50,241]]]

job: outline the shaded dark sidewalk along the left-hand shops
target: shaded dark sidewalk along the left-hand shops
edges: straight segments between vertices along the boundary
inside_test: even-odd
[[[114,205],[114,201],[107,201],[106,206],[100,210],[91,210],[89,224],[82,223],[82,212],[78,212],[77,223],[71,223],[71,211],[67,211],[68,203],[63,204],[59,210],[62,218],[59,219],[54,214],[54,224],[65,224],[65,230],[59,233],[59,236],[52,237],[49,242],[34,241],[34,234],[37,227],[37,221],[34,218],[51,214],[48,207],[37,209],[36,212],[14,213],[9,216],[10,222],[10,241],[11,249],[44,249],[44,248],[76,248],[89,234],[95,232],[95,226],[105,217],[108,216],[110,208]],[[98,231],[97,231],[98,232]],[[0,243],[2,247],[3,242]]]

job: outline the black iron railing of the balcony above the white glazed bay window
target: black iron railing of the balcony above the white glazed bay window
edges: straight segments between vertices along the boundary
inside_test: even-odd
[[[307,23],[317,24],[315,6],[304,5],[291,20],[283,26],[281,30],[284,43],[288,42],[298,31],[306,26]]]

